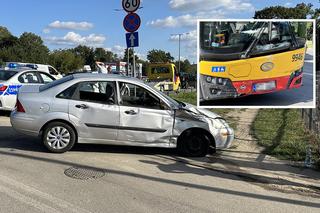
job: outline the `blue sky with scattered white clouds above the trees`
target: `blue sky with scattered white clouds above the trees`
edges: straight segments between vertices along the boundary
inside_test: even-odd
[[[79,44],[102,47],[122,56],[126,48],[122,26],[127,14],[122,0],[10,0],[3,1],[0,26],[15,36],[35,33],[50,50]],[[302,0],[142,0],[136,13],[141,18],[136,53],[146,59],[149,50],[162,49],[178,59],[196,62],[197,18],[252,18],[256,10],[281,5],[293,7]],[[320,7],[317,0],[307,0]]]

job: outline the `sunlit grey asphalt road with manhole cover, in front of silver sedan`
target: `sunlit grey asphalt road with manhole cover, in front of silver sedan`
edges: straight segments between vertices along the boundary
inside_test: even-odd
[[[0,116],[0,212],[319,212],[317,198],[177,159],[173,150],[107,145],[51,154]],[[69,168],[96,179],[70,178]]]

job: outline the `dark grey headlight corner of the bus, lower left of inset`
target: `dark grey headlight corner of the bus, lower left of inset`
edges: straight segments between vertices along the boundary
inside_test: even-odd
[[[235,98],[237,90],[230,79],[200,75],[200,101]]]

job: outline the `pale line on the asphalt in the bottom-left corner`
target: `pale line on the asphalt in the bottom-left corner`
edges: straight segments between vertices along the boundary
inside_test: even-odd
[[[54,197],[50,194],[44,193],[42,191],[39,191],[33,187],[27,186],[21,182],[15,181],[13,179],[9,179],[3,175],[0,175],[0,181],[6,183],[7,185],[11,185],[12,187],[15,187],[21,191],[25,191],[28,194],[33,194],[35,196],[38,196],[39,198],[42,198],[44,200],[49,201],[50,203],[62,208],[68,210],[68,212],[75,212],[75,213],[90,213],[90,211],[87,211],[85,209],[82,209],[80,207],[77,207],[67,201],[61,200],[57,197]],[[1,187],[1,185],[0,185]],[[19,192],[16,192],[20,194]],[[45,205],[45,204],[43,204]]]

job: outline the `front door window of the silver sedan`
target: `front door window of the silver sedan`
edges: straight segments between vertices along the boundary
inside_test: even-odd
[[[143,107],[150,109],[163,109],[163,104],[160,102],[160,98],[155,96],[143,87],[130,84],[119,83],[120,90],[120,104],[130,107]]]

